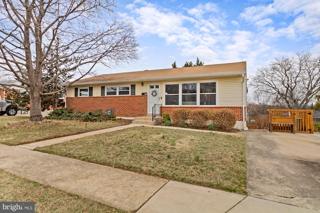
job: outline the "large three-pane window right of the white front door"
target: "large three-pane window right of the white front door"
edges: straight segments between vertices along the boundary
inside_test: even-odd
[[[165,84],[165,105],[216,105],[216,82]]]

